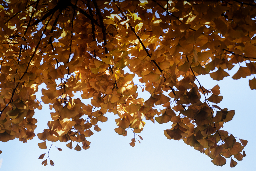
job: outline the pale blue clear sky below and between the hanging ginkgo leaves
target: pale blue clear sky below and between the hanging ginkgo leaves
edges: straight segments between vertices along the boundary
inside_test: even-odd
[[[244,66],[245,63],[240,65]],[[50,165],[49,159],[47,166],[41,165],[47,154],[43,160],[38,159],[42,153],[48,152],[51,145],[49,141],[46,142],[46,150],[39,149],[37,146],[38,142],[43,142],[37,136],[27,143],[22,143],[18,139],[5,143],[0,142],[0,150],[3,151],[0,154],[0,163],[2,160],[0,170],[254,170],[256,161],[256,90],[251,90],[248,85],[248,80],[253,78],[252,75],[239,80],[231,78],[238,69],[239,65],[236,65],[231,71],[228,71],[231,76],[225,77],[221,81],[212,80],[210,75],[197,76],[200,83],[207,89],[213,88],[216,84],[220,86],[220,95],[223,96],[223,100],[218,104],[219,107],[235,110],[233,120],[225,123],[223,130],[232,133],[234,137],[248,140],[248,144],[244,148],[247,156],[242,161],[238,161],[234,168],[229,166],[230,158],[227,159],[226,165],[215,166],[207,155],[186,145],[183,140],[167,139],[163,130],[170,129],[171,122],[160,125],[157,122],[153,124],[151,121],[146,121],[144,130],[139,134],[143,137],[141,144],[136,141],[136,146],[131,147],[129,143],[131,138],[134,138],[132,131],[129,130],[126,137],[115,133],[114,129],[118,126],[114,120],[118,116],[108,113],[106,114],[108,121],[99,122],[99,127],[102,130],[100,132],[92,130],[94,135],[86,138],[91,142],[88,150],[75,151],[76,143],[74,142],[72,150],[66,147],[67,142],[54,142],[54,146],[63,149],[58,151],[54,146],[50,149],[49,157],[55,166]],[[134,82],[141,84],[138,82],[138,77],[134,78]],[[38,99],[40,99],[39,96],[41,96],[41,90],[37,93]],[[149,96],[146,91],[139,93],[139,97],[145,100]],[[88,100],[83,102],[90,103]],[[50,112],[53,111],[49,110],[49,105],[43,105],[42,110],[35,111],[34,117],[38,120],[36,134],[47,128],[47,122],[51,120]],[[239,142],[239,139],[237,141]],[[236,161],[234,157],[233,160]]]

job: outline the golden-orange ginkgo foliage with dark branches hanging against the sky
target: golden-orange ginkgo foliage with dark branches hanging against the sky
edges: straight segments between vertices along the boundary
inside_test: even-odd
[[[0,3],[0,140],[22,142],[36,135],[35,109],[49,104],[52,120],[37,134],[88,149],[106,112],[116,114],[115,132],[134,133],[144,120],[172,122],[168,139],[183,140],[215,165],[236,166],[247,141],[222,130],[234,110],[221,109],[220,87],[203,87],[196,76],[256,74],[256,4],[233,1],[5,0]],[[128,68],[128,69],[126,69]],[[133,78],[149,99],[138,97]],[[41,99],[38,86],[45,84]],[[256,79],[249,80],[256,89]],[[81,92],[80,98],[73,98]],[[91,99],[84,104],[82,99]],[[163,110],[155,106],[162,105]],[[94,131],[94,132],[95,132]],[[140,140],[139,140],[139,139]],[[76,145],[73,142],[77,142]],[[58,148],[60,151],[61,149]],[[46,153],[45,153],[46,154]],[[45,154],[39,159],[44,159]],[[48,153],[47,153],[48,154]],[[232,157],[233,158],[232,158]],[[49,157],[49,155],[48,155]],[[48,159],[47,157],[47,159]],[[47,165],[47,159],[42,162]],[[54,165],[50,160],[50,165]]]

